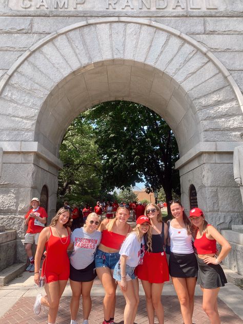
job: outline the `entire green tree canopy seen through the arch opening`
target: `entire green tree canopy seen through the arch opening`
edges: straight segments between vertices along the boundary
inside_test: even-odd
[[[144,180],[147,192],[163,188],[167,200],[172,190],[180,194],[175,137],[164,119],[139,104],[106,102],[80,114],[63,138],[60,159],[58,194],[65,199],[106,199],[115,188]]]

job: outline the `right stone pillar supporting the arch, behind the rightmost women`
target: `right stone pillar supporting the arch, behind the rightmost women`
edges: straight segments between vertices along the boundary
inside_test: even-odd
[[[243,222],[239,188],[233,177],[233,152],[202,153],[180,169],[181,200],[190,210],[189,188],[197,191],[198,207],[218,230],[231,229]]]

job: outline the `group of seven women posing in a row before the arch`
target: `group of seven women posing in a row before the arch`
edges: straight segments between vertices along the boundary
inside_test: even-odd
[[[132,230],[127,223],[130,211],[123,206],[118,207],[115,218],[104,219],[100,226],[98,216],[89,214],[84,228],[76,229],[72,234],[69,230],[70,212],[61,208],[50,227],[39,236],[34,280],[38,285],[40,277],[46,277],[46,295],[36,296],[35,313],[40,312],[42,305],[49,307],[48,322],[54,324],[60,297],[70,278],[71,324],[77,324],[81,295],[83,324],[88,324],[90,291],[97,273],[105,290],[103,324],[114,322],[117,284],[126,299],[124,323],[134,322],[139,303],[138,278],[145,291],[149,324],[154,323],[155,314],[162,324],[161,293],[170,273],[184,323],[192,324],[196,281],[203,292],[202,308],[211,323],[220,323],[217,295],[227,281],[219,263],[231,247],[213,226],[207,224],[199,208],[192,209],[189,218],[179,201],[170,201],[170,208],[173,219],[169,226],[163,222],[160,208],[149,204],[145,215],[137,219]],[[221,245],[217,257],[216,241]],[[164,252],[166,242],[170,245],[169,267]],[[45,246],[47,255],[40,274],[40,259]],[[73,250],[70,266],[67,250]]]

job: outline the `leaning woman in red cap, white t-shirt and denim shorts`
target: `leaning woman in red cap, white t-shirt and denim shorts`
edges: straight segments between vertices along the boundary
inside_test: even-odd
[[[124,324],[134,323],[139,304],[138,280],[134,274],[135,267],[143,262],[145,252],[144,235],[148,233],[148,246],[151,245],[150,219],[140,215],[136,220],[135,229],[127,236],[119,251],[120,259],[117,262],[113,278],[118,282],[120,290],[126,299],[124,310]]]

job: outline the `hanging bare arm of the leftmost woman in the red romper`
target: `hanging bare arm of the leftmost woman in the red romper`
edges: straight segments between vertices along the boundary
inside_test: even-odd
[[[42,254],[45,248],[45,244],[49,239],[49,235],[50,235],[50,229],[49,227],[46,227],[40,232],[38,238],[38,244],[37,244],[37,249],[34,258],[34,281],[37,285],[39,285],[39,278],[40,278],[40,272],[39,272],[40,260],[42,259]]]

